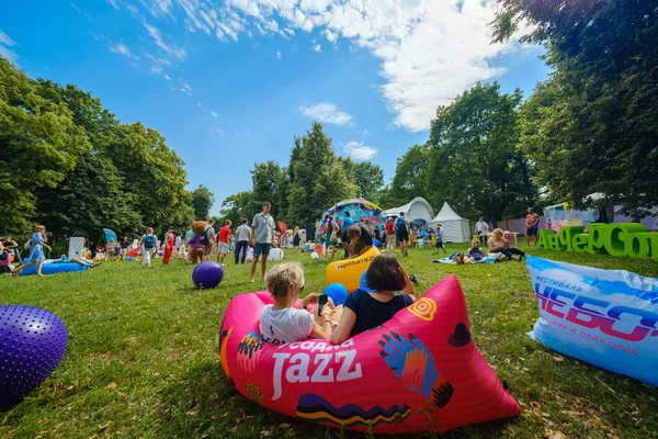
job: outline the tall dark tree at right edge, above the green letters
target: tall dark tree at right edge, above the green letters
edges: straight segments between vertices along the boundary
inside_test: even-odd
[[[658,204],[651,178],[658,175],[656,2],[500,3],[495,40],[509,38],[523,23],[531,30],[523,41],[545,44],[556,70],[526,105],[525,147],[542,183],[576,206],[600,192],[599,203],[646,214],[642,207]]]

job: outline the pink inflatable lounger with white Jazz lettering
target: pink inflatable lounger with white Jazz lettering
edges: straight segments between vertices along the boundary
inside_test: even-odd
[[[521,412],[475,347],[454,275],[340,346],[264,342],[259,316],[269,303],[268,292],[234,297],[219,333],[226,376],[263,407],[374,434],[444,432]]]

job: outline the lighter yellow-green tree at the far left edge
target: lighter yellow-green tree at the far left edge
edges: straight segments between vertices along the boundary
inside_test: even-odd
[[[35,191],[56,188],[90,150],[64,103],[38,94],[34,81],[0,57],[0,232],[24,234],[34,221]]]

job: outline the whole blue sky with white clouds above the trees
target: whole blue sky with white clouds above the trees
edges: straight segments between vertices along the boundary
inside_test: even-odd
[[[95,0],[12,2],[0,54],[75,83],[125,123],[160,131],[190,189],[251,187],[254,162],[287,162],[325,123],[338,154],[379,165],[424,143],[439,104],[477,81],[527,97],[538,47],[491,45],[490,0]],[[386,206],[384,206],[386,207]]]

